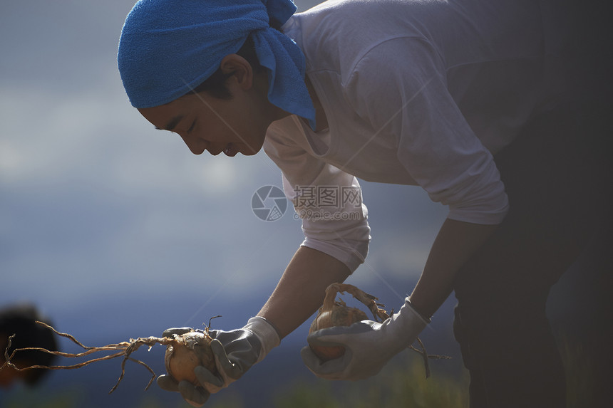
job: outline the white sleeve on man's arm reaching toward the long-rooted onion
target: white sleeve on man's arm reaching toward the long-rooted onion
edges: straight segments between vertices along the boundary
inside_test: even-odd
[[[309,155],[269,130],[267,155],[282,169],[283,189],[302,219],[306,246],[327,253],[355,271],[368,253],[368,210],[356,177]]]

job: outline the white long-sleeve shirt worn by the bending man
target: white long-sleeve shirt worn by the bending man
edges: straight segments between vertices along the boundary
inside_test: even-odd
[[[493,153],[557,96],[545,13],[532,0],[334,0],[293,16],[283,29],[329,128],[286,117],[264,150],[303,218],[303,245],[351,271],[364,261],[366,207],[304,199],[309,186],[358,188],[356,177],[419,185],[450,219],[500,223],[508,197]]]

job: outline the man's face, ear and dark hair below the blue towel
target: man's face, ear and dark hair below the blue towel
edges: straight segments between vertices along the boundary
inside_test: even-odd
[[[267,128],[287,115],[267,98],[268,81],[247,41],[215,73],[180,98],[138,111],[157,129],[180,135],[195,155],[255,155]]]

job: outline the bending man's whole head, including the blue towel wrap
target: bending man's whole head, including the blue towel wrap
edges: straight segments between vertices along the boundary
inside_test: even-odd
[[[277,112],[282,110],[306,117],[314,125],[314,108],[304,83],[304,54],[291,38],[279,31],[294,11],[296,6],[291,0],[138,1],[125,20],[118,48],[118,68],[130,103],[160,127],[158,119],[187,114],[178,112],[173,106],[170,106],[172,113],[160,107],[177,105],[177,100],[185,96],[189,99],[194,90],[200,95],[199,91],[204,88],[206,92],[202,95],[222,96],[213,101],[216,104],[232,97],[234,106],[220,103],[219,107],[209,109],[213,120],[220,119],[226,127],[234,128],[230,130],[232,135],[242,135],[235,127],[247,127],[244,122],[252,120],[251,114],[262,114],[258,112],[262,103],[274,105]],[[245,49],[251,51],[254,58],[242,55]],[[247,77],[242,75],[242,64],[235,64],[238,60],[234,56],[249,63]],[[264,80],[260,80],[262,77]],[[211,83],[215,85],[213,88],[209,86]],[[262,83],[266,85],[264,89],[256,86]],[[240,95],[242,91],[249,95]],[[263,101],[262,93],[266,97]],[[244,108],[240,106],[241,96],[247,96],[244,102],[249,101],[251,105],[245,115],[236,116],[238,108]],[[222,109],[232,115],[223,116]],[[267,109],[264,113],[270,111]],[[175,116],[167,117],[170,114]],[[203,116],[208,114],[202,113]],[[276,112],[272,116],[277,117]],[[239,122],[234,121],[237,117]],[[202,125],[202,121],[199,122]],[[260,122],[262,120],[253,124],[258,127],[258,138],[262,133]],[[184,133],[192,123],[194,120],[190,118]],[[225,150],[230,155],[257,152],[259,142],[250,142],[249,137],[242,137],[244,142],[240,137],[224,137],[225,145],[220,147],[222,142],[210,140],[213,130],[216,127],[207,129],[206,135],[200,132],[204,144],[212,145],[210,151]],[[232,147],[239,143],[243,146],[233,150]],[[200,145],[199,142],[190,150],[199,152]]]

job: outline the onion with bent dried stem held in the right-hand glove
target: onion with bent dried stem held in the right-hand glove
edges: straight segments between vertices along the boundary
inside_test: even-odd
[[[359,308],[351,308],[346,305],[346,303],[339,299],[336,299],[337,293],[349,293],[354,298],[359,300],[361,303],[366,305],[371,311],[374,320],[376,322],[383,322],[391,315],[393,315],[393,310],[390,313],[387,313],[385,309],[385,305],[382,303],[377,303],[378,298],[369,293],[361,291],[356,286],[349,285],[347,283],[332,283],[328,288],[326,288],[326,296],[324,298],[324,303],[319,308],[319,311],[311,323],[311,328],[309,328],[309,333],[313,333],[316,330],[321,330],[324,328],[331,328],[335,326],[350,326],[354,323],[357,323],[361,320],[367,320],[368,316]],[[426,366],[426,378],[430,377],[430,366],[428,365],[428,358],[448,359],[450,357],[445,355],[428,355],[426,352],[426,347],[424,347],[423,342],[418,338],[417,342],[419,343],[421,350],[418,350],[413,345],[409,345],[408,348],[413,350],[414,352],[418,352],[424,361],[424,365]],[[312,346],[311,350],[315,353],[315,355],[323,361],[333,360],[335,358],[342,357],[345,354],[345,347],[342,346]]]

